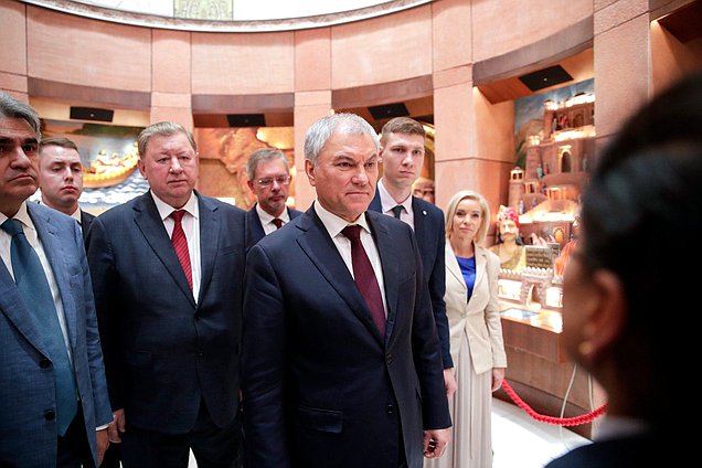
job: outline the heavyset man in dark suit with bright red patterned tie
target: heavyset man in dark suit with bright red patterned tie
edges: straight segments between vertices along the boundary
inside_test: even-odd
[[[138,138],[150,190],[97,216],[88,260],[115,412],[129,467],[238,466],[245,215],[194,191],[192,134],[153,124]]]

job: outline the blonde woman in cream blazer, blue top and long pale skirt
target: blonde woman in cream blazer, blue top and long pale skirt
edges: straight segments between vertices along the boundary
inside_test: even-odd
[[[502,385],[507,355],[497,297],[498,256],[481,244],[490,225],[485,196],[464,190],[446,212],[446,312],[458,390],[449,401],[453,444],[425,468],[492,466],[492,392]]]

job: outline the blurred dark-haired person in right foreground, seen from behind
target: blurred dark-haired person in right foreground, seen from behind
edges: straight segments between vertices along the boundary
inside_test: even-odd
[[[606,148],[586,189],[563,278],[563,339],[606,390],[607,414],[562,467],[688,466],[696,455],[702,238],[702,73],[653,97]],[[691,395],[693,396],[693,395]]]

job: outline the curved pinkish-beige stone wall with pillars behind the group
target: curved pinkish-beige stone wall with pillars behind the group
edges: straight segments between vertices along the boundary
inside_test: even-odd
[[[497,210],[507,202],[514,161],[513,100],[487,98],[475,86],[476,71],[485,86],[594,51],[586,68],[594,68],[602,147],[657,87],[702,66],[699,41],[683,45],[651,25],[687,3],[571,0],[562,8],[552,0],[437,0],[318,29],[204,33],[107,23],[0,0],[0,89],[42,109],[109,106],[118,118],[172,119],[189,128],[193,103],[212,114],[287,113],[295,123],[301,208],[315,195],[305,177],[305,131],[333,103],[361,107],[428,97],[437,204],[443,208],[457,190],[475,189]],[[583,33],[584,26],[592,31]],[[222,173],[211,164],[201,189],[216,195]]]

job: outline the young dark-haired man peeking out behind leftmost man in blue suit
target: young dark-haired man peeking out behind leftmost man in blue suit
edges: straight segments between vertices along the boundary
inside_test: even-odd
[[[78,206],[83,193],[83,163],[76,143],[67,138],[44,138],[39,143],[41,202],[75,217],[87,236],[94,215]]]

